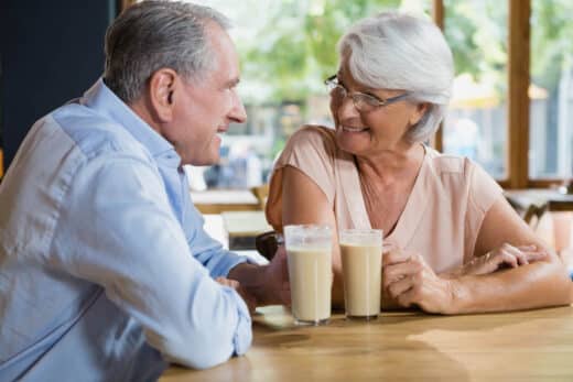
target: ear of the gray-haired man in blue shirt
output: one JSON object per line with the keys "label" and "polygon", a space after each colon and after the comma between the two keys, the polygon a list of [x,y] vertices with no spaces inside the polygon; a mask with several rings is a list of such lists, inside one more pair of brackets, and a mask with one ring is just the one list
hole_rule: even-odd
{"label": "ear of the gray-haired man in blue shirt", "polygon": [[173,92],[176,88],[177,74],[170,68],[161,68],[149,79],[149,100],[160,122],[173,119]]}

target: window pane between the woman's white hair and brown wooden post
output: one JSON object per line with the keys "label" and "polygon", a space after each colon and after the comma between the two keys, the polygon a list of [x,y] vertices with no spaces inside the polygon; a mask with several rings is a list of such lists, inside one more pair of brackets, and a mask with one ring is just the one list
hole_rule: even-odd
{"label": "window pane between the woman's white hair and brown wooden post", "polygon": [[507,3],[444,1],[444,34],[456,77],[443,128],[443,151],[507,177]]}

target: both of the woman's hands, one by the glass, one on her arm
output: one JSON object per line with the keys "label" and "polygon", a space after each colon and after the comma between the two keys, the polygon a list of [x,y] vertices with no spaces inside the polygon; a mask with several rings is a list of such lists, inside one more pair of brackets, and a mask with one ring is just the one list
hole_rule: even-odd
{"label": "both of the woman's hands, one by the glass, one on her arm", "polygon": [[537,245],[513,247],[506,243],[453,272],[437,275],[419,253],[390,248],[382,258],[385,305],[418,306],[428,313],[452,314],[461,277],[518,268],[548,255]]}

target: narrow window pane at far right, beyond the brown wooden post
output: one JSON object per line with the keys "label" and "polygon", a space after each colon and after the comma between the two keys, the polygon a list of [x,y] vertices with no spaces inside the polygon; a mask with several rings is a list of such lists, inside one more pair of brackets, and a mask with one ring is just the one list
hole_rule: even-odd
{"label": "narrow window pane at far right, beyond the brown wooden post", "polygon": [[531,2],[529,176],[573,176],[571,1]]}

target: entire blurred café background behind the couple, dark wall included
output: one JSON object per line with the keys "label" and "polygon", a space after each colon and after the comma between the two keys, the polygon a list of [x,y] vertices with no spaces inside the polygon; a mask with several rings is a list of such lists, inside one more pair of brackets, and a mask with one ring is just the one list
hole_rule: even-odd
{"label": "entire blurred caf\u00e9 background behind the couple, dark wall included", "polygon": [[[0,176],[33,122],[101,75],[106,28],[134,2],[0,2]],[[303,123],[332,124],[323,81],[337,70],[338,37],[355,21],[396,9],[433,20],[454,53],[450,111],[428,143],[480,163],[508,198],[515,189],[533,190],[542,203],[518,204],[551,211],[554,232],[567,237],[554,242],[570,245],[573,196],[553,192],[566,192],[573,176],[573,1],[194,2],[235,25],[238,91],[249,117],[225,134],[218,164],[186,168],[192,192],[203,193],[194,195],[202,211],[263,208],[264,188],[257,187],[267,184],[292,132]]]}

